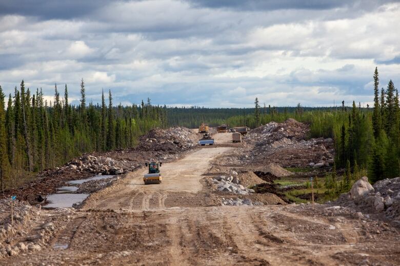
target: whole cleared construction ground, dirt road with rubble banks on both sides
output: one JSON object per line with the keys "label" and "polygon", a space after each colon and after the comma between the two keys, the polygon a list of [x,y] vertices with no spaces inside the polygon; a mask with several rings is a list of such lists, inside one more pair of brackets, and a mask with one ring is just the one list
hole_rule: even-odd
{"label": "whole cleared construction ground, dirt road with rubble banks on both sides", "polygon": [[[290,175],[282,166],[331,167],[332,140],[307,139],[296,123],[262,126],[239,143],[214,133],[210,146],[197,145],[197,130],[157,129],[141,148],[84,154],[47,173],[56,173],[54,185],[18,194],[13,224],[10,201],[0,201],[0,264],[398,265],[397,179],[375,187],[361,180],[327,204],[290,204],[253,189]],[[144,185],[149,161],[163,162],[161,184]],[[90,181],[75,208],[45,209],[28,194],[117,171],[107,185]]]}

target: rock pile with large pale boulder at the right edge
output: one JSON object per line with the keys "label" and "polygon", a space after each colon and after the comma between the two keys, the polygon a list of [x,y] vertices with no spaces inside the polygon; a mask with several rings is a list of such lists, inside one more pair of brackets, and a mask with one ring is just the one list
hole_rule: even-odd
{"label": "rock pile with large pale boulder at the right edge", "polygon": [[400,178],[381,180],[371,186],[364,176],[334,204],[377,214],[400,223]]}

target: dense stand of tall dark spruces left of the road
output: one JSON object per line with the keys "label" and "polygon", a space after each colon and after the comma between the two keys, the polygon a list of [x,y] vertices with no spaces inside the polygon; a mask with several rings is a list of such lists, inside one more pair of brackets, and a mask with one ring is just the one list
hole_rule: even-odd
{"label": "dense stand of tall dark spruces left of the road", "polygon": [[[108,99],[106,99],[108,98]],[[106,102],[107,101],[107,102]],[[7,105],[6,105],[7,102]],[[6,107],[7,106],[7,107]],[[69,103],[54,86],[54,100],[42,89],[31,93],[24,80],[8,100],[0,86],[0,180],[2,189],[24,182],[32,173],[62,165],[83,152],[133,147],[137,137],[154,127],[167,126],[166,106],[150,99],[141,105],[114,106],[112,94],[102,103],[87,105],[85,82],[81,100]]]}

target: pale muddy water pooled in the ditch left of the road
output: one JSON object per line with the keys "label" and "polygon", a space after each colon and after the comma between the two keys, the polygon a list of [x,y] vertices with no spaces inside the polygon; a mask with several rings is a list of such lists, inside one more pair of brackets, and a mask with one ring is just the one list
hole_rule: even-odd
{"label": "pale muddy water pooled in the ditch left of the road", "polygon": [[[107,179],[111,176],[113,175],[96,175],[88,179],[72,180],[67,183],[70,185],[81,185],[85,182]],[[73,204],[81,203],[89,196],[89,194],[73,193],[77,189],[77,186],[63,186],[57,188],[56,194],[50,194],[47,196],[47,200],[50,203],[43,206],[43,208],[71,208]]]}

